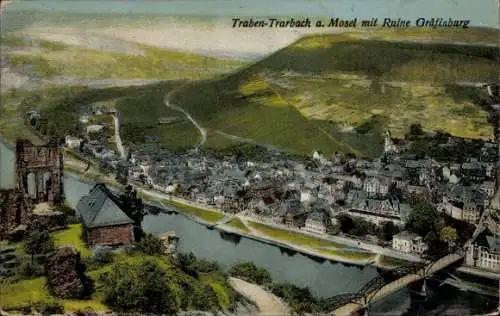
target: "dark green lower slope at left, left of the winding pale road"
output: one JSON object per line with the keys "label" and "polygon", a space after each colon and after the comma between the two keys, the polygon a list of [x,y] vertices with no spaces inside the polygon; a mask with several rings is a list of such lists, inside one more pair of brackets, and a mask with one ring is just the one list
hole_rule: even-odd
{"label": "dark green lower slope at left, left of the winding pale road", "polygon": [[[163,104],[165,94],[182,84],[166,81],[141,87],[89,89],[55,86],[31,92],[14,91],[0,96],[0,133],[6,139],[40,138],[24,125],[24,113],[38,109],[45,119],[46,135],[64,138],[81,132],[79,112],[92,103],[106,103],[121,115],[120,134],[127,147],[155,142],[163,148],[192,148],[200,139],[199,131],[184,115]],[[170,124],[161,118],[177,117]],[[154,139],[156,138],[156,139]],[[151,140],[153,139],[153,140]]]}

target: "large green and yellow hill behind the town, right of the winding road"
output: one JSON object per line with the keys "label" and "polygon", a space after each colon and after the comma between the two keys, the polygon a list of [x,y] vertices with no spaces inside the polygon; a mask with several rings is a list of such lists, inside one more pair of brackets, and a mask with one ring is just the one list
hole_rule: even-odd
{"label": "large green and yellow hill behind the town, right of the winding road", "polygon": [[406,41],[388,32],[305,37],[223,79],[185,86],[173,102],[209,132],[291,152],[373,156],[384,128],[402,137],[417,121],[490,138],[487,113],[477,106],[485,92],[461,84],[498,80],[498,48],[474,43],[500,33],[454,30],[447,43],[435,43],[429,32],[411,32]]}

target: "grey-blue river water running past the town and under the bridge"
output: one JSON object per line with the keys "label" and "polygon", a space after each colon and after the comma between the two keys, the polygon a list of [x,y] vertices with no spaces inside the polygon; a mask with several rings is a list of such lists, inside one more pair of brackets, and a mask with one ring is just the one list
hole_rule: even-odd
{"label": "grey-blue river water running past the town and under the bridge", "polygon": [[[5,187],[14,183],[13,158],[12,151],[0,143],[0,186]],[[84,182],[77,177],[66,175],[64,190],[67,202],[75,207],[78,200],[88,193],[91,186],[92,182]],[[143,227],[145,231],[154,234],[174,230],[180,237],[180,251],[191,251],[199,258],[218,262],[222,267],[243,261],[253,261],[269,270],[274,280],[307,286],[316,295],[322,297],[355,292],[377,274],[373,267],[349,266],[330,261],[317,262],[298,253],[287,254],[278,247],[254,240],[232,235],[223,236],[219,231],[209,230],[182,215],[166,213],[147,215]],[[370,313],[372,315],[402,315],[410,307],[413,307],[412,310],[415,311],[422,310],[423,305],[411,299],[409,293],[408,289],[399,291],[376,303]],[[450,309],[448,315],[457,315],[457,308],[461,311],[461,315],[472,315],[468,305],[492,309],[487,306],[494,302],[480,305],[477,299],[477,296],[471,296],[449,287],[440,291],[438,298],[440,306]]]}

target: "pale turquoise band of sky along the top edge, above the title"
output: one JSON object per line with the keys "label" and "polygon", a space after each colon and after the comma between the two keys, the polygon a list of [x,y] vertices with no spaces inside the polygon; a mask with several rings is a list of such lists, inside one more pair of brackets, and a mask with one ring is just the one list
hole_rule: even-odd
{"label": "pale turquoise band of sky along the top edge, above the title", "polygon": [[[91,5],[89,5],[91,4]],[[498,0],[12,0],[4,11],[141,13],[211,16],[335,16],[368,19],[469,19],[499,27]]]}

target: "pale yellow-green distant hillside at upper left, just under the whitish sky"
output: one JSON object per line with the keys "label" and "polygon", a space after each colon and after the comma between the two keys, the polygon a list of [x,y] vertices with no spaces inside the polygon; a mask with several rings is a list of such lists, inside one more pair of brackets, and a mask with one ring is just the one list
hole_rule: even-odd
{"label": "pale yellow-green distant hillside at upper left, just under the whitish sky", "polygon": [[94,79],[204,79],[245,65],[142,44],[130,44],[142,54],[106,52],[47,40],[2,37],[2,46],[23,49],[8,55],[14,68],[30,67],[40,77],[70,76]]}

